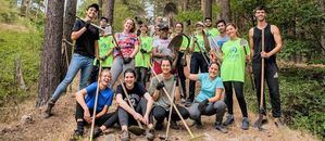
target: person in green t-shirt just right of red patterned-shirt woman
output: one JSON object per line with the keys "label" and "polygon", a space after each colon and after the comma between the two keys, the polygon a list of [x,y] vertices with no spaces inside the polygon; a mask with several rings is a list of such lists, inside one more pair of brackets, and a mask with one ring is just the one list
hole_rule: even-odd
{"label": "person in green t-shirt just right of red patterned-shirt woman", "polygon": [[146,24],[140,25],[140,51],[135,56],[135,68],[137,73],[137,81],[142,84],[146,88],[146,80],[148,76],[150,53],[152,51],[152,38],[148,36],[148,26]]}

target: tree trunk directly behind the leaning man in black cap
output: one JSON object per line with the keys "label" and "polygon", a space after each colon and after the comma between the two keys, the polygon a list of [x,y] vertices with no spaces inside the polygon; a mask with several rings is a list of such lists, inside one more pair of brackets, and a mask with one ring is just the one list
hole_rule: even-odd
{"label": "tree trunk directly behind the leaning man in black cap", "polygon": [[[75,17],[76,17],[77,0],[66,0],[65,2],[66,3],[65,3],[64,22],[63,22],[63,39],[65,39],[68,42],[73,42],[71,39],[71,33],[76,20]],[[64,79],[65,74],[67,72],[67,66],[70,64],[71,56],[72,56],[72,49],[73,49],[72,46],[70,46],[65,41],[62,42],[60,80]]]}

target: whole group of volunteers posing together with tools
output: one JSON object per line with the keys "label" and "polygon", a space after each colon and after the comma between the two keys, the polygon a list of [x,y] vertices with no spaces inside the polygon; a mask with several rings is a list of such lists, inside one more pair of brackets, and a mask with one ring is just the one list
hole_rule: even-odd
{"label": "whole group of volunteers posing together with tools", "polygon": [[[168,118],[170,113],[173,129],[179,129],[177,121],[180,116],[192,119],[197,128],[202,128],[201,115],[215,115],[215,129],[226,133],[226,126],[235,120],[234,92],[242,114],[241,128],[247,130],[249,119],[243,94],[245,68],[250,66],[254,75],[260,103],[261,67],[264,66],[261,65],[262,59],[265,59],[265,78],[273,117],[277,124],[280,121],[275,54],[282,49],[282,38],[279,29],[266,23],[266,10],[263,7],[258,7],[254,11],[258,25],[249,30],[249,41],[239,37],[235,24],[220,20],[214,28],[211,17],[205,17],[204,23],[197,22],[196,31],[188,40],[188,36],[183,33],[183,23],[176,23],[174,30],[171,30],[161,17],[157,18],[152,34],[150,26],[143,23],[137,25],[133,18],[126,18],[123,31],[112,35],[91,25],[98,11],[98,4],[91,4],[86,11],[86,17],[75,22],[71,38],[76,40],[76,44],[68,70],[45,112],[45,117],[51,116],[55,102],[80,70],[79,91],[75,94],[77,129],[74,136],[83,136],[84,125],[96,118],[98,127],[93,131],[95,138],[118,124],[122,129],[121,139],[129,140],[128,127],[140,121],[148,127],[147,139],[153,140],[155,130],[164,128],[164,119]],[[101,17],[100,26],[105,28],[108,22],[105,17]],[[184,37],[179,49],[173,50],[168,44],[176,36]],[[262,50],[262,43],[265,50]],[[186,63],[187,54],[190,54],[189,68]],[[123,76],[118,80],[121,74]],[[186,78],[189,79],[188,95]],[[87,86],[88,80],[90,85]],[[196,81],[201,86],[197,94]],[[92,115],[97,90],[96,115]],[[117,108],[108,113],[114,97]],[[173,104],[176,104],[177,110],[172,107]],[[223,121],[226,112],[226,119]],[[265,111],[261,114],[266,117]]]}

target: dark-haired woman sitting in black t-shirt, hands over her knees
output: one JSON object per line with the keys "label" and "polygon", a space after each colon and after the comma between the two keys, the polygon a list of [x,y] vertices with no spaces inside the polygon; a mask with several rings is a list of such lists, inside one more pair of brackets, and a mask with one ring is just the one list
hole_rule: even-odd
{"label": "dark-haired woman sitting in black t-shirt, hands over her knees", "polygon": [[[151,115],[151,108],[153,105],[153,100],[151,95],[147,92],[145,87],[136,81],[136,72],[132,68],[127,68],[124,72],[124,82],[117,86],[116,89],[116,101],[118,104],[118,119],[122,127],[122,141],[129,140],[128,125],[129,117],[133,117],[133,121],[139,120],[147,125],[149,128],[146,132],[148,140],[153,140],[155,137],[153,129],[153,118]],[[126,92],[124,92],[123,87],[125,86]],[[129,100],[127,100],[127,95]],[[132,105],[128,104],[129,101]],[[133,108],[133,107],[134,108]]]}

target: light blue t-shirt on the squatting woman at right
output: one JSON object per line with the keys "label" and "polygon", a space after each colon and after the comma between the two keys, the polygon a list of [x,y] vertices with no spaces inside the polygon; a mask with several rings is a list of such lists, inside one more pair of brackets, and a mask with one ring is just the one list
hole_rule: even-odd
{"label": "light blue t-shirt on the squatting woman at right", "polygon": [[224,89],[223,80],[221,77],[216,77],[213,80],[209,78],[209,73],[199,74],[199,81],[201,84],[200,93],[197,95],[196,101],[201,102],[205,99],[213,98],[215,90]]}

